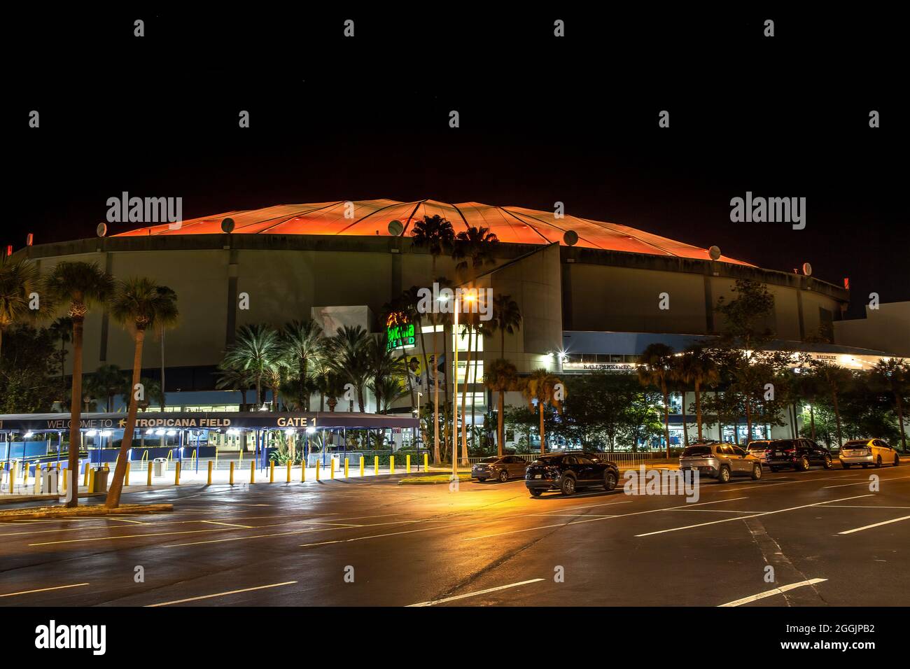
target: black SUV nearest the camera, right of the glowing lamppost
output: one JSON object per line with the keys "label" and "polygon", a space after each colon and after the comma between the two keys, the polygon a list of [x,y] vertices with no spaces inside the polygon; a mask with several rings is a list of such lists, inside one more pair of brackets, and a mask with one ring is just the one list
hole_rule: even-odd
{"label": "black SUV nearest the camera, right of the glowing lamppost", "polygon": [[572,451],[541,455],[528,465],[524,484],[532,497],[549,490],[571,495],[581,488],[602,485],[612,491],[620,480],[615,462],[603,459],[601,453]]}

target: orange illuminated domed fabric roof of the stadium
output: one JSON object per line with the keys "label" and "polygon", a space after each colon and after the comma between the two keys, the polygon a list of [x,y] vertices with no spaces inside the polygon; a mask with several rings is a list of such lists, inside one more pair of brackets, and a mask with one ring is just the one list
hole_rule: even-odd
{"label": "orange illuminated domed fabric roof of the stadium", "polygon": [[[447,218],[455,232],[469,227],[490,228],[501,242],[513,244],[565,244],[562,235],[567,230],[578,233],[582,248],[602,248],[652,256],[710,259],[705,248],[694,247],[649,232],[615,223],[589,218],[564,216],[556,218],[552,211],[522,207],[493,207],[478,202],[448,204],[425,199],[398,202],[372,199],[353,202],[353,217],[346,218],[345,202],[319,202],[308,205],[276,205],[262,209],[227,211],[223,214],[192,218],[183,221],[179,229],[167,223],[122,232],[115,237],[157,235],[196,235],[221,233],[221,221],[234,219],[234,234],[270,235],[369,235],[389,236],[389,221],[399,220],[404,236],[410,236],[416,220],[439,214]],[[750,263],[721,256],[722,262],[737,265]],[[751,265],[750,265],[751,266]]]}

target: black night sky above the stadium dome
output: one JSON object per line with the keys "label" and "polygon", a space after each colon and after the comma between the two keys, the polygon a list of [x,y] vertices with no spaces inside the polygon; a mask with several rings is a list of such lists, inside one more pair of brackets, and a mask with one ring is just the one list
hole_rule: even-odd
{"label": "black night sky above the stadium dome", "polygon": [[[910,299],[894,17],[459,6],[16,17],[0,241],[91,237],[124,190],[180,196],[185,218],[347,199],[559,200],[768,269],[809,261],[818,279],[851,279],[852,317],[872,291]],[[555,18],[566,37],[552,36]],[[27,127],[31,109],[40,128]],[[730,198],[747,190],[806,198],[806,228],[732,223]]]}

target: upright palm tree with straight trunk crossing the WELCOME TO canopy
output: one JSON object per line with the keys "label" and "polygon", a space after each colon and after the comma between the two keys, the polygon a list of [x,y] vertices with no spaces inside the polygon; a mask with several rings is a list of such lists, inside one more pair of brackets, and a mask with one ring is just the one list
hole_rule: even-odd
{"label": "upright palm tree with straight trunk crossing the WELCOME TO canopy", "polygon": [[73,385],[70,392],[69,470],[73,477],[73,496],[66,506],[79,503],[76,495],[79,466],[79,419],[82,415],[82,333],[86,314],[96,304],[104,304],[114,289],[114,279],[96,263],[59,262],[45,279],[49,299],[66,304],[73,321]]}

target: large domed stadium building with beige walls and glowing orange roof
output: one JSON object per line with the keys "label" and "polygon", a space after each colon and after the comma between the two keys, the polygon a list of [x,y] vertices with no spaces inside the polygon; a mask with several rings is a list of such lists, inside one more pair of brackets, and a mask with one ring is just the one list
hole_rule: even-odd
{"label": "large domed stadium building with beige walls and glowing orange roof", "polygon": [[[279,205],[30,246],[15,255],[31,258],[42,272],[62,260],[84,260],[118,279],[147,276],[174,289],[180,321],[166,335],[168,409],[236,411],[239,393],[216,391],[214,372],[239,327],[313,318],[328,334],[346,324],[384,330],[384,305],[411,286],[432,284],[433,258],[411,235],[415,222],[435,215],[448,219],[456,233],[490,228],[499,244],[476,283],[494,295],[511,295],[521,309],[521,329],[505,335],[504,351],[499,334],[481,342],[478,380],[482,361],[503,354],[520,372],[633,370],[649,343],[681,350],[718,333],[723,324],[713,306],[732,296],[736,279],[760,281],[773,294],[769,326],[779,340],[859,366],[886,354],[801,343],[820,332],[830,336],[834,321],[842,319],[849,295],[840,286],[624,225],[521,207],[430,199]],[[226,218],[233,221],[229,234],[223,231]],[[451,258],[437,259],[436,275],[455,279]],[[434,336],[441,352],[442,334],[429,323],[423,330],[428,352]],[[86,372],[104,364],[129,369],[132,358],[126,332],[106,313],[91,312]],[[160,345],[149,342],[143,375],[157,378],[161,359]],[[480,417],[487,393],[478,383],[469,404],[471,395]]]}

